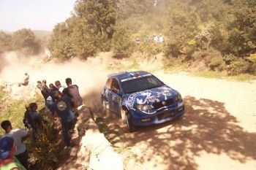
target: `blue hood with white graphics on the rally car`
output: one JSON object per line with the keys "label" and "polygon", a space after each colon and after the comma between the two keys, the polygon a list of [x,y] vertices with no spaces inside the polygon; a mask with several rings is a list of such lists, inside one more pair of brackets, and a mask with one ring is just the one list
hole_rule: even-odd
{"label": "blue hood with white graphics on the rally car", "polygon": [[178,95],[176,90],[167,86],[143,90],[136,93],[127,94],[127,100],[124,102],[127,109],[132,109],[138,104],[154,104],[155,102],[165,101]]}

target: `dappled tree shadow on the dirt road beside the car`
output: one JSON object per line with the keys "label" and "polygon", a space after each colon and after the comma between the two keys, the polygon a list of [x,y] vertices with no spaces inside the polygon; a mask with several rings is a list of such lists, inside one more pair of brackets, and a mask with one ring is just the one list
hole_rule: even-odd
{"label": "dappled tree shadow on the dirt road beside the car", "polygon": [[[89,106],[97,112],[101,111],[99,96],[97,91],[86,96],[86,101],[91,100]],[[203,151],[217,155],[225,153],[241,163],[256,161],[256,134],[237,125],[236,117],[227,112],[224,103],[192,96],[186,96],[184,101],[184,116],[172,122],[139,128],[135,133],[127,133],[121,120],[113,114],[105,120],[118,129],[125,144],[140,147],[142,151],[136,155],[140,163],[154,159],[154,166],[162,164],[166,169],[197,169],[195,156]]]}

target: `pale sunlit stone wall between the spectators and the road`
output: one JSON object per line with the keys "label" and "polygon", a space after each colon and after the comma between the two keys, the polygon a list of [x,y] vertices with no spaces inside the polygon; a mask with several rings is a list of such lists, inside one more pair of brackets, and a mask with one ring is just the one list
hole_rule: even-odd
{"label": "pale sunlit stone wall between the spectators and the road", "polygon": [[59,170],[123,170],[121,155],[113,150],[104,134],[91,119],[89,109],[79,111],[78,122],[72,134],[75,145],[69,150],[69,158],[59,166]]}

